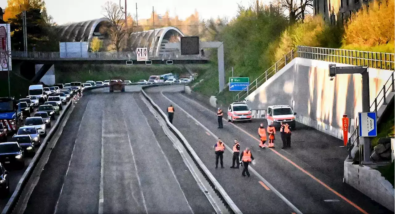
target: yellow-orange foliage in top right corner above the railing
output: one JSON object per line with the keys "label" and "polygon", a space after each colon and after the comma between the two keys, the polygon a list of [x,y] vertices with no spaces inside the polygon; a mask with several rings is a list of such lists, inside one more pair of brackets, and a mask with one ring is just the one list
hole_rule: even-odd
{"label": "yellow-orange foliage in top right corner above the railing", "polygon": [[361,48],[395,44],[395,0],[363,6],[345,27],[344,46]]}

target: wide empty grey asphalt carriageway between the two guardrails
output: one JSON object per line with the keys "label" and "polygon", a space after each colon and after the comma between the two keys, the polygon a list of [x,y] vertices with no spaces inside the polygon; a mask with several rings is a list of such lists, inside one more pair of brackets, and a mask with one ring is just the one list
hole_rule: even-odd
{"label": "wide empty grey asphalt carriageway between the two guardrails", "polygon": [[215,213],[139,89],[84,94],[25,213]]}

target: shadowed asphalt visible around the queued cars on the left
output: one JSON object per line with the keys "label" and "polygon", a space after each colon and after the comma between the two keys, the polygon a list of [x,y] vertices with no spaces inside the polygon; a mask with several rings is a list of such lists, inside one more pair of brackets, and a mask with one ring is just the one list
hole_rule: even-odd
{"label": "shadowed asphalt visible around the queued cars on the left", "polygon": [[[64,110],[62,110],[64,111]],[[60,111],[60,113],[62,113],[62,111]],[[30,116],[33,116],[34,113],[37,112],[37,108],[34,108],[33,113],[30,114]],[[52,125],[54,125],[56,123],[56,120],[58,120],[58,115],[55,115],[55,120],[51,120],[51,127],[47,127],[47,133],[51,130]],[[11,140],[12,136],[14,134],[13,133],[8,133],[7,139],[8,141]],[[45,137],[41,136],[41,141],[44,140]],[[36,147],[36,151],[38,150],[39,147]],[[32,160],[33,156],[25,156],[25,165],[23,169],[15,169],[15,168],[9,168],[7,166],[5,166],[6,170],[9,172],[9,194],[8,196],[2,197],[0,199],[0,209],[3,209],[9,200],[9,197],[11,197],[11,195],[13,194],[15,188],[17,187],[17,184],[19,182],[19,179],[21,179],[23,173],[25,172],[26,168],[29,166],[30,161]]]}

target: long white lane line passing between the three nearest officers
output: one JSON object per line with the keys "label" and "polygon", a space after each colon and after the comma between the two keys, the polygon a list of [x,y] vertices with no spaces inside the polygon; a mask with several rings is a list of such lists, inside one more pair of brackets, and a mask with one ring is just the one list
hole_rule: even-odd
{"label": "long white lane line passing between the three nearest officers", "polygon": [[[169,98],[167,98],[164,94],[163,94],[163,90],[160,92],[160,94],[162,94],[162,96],[164,98],[166,98],[167,100],[169,100],[171,103],[173,103],[173,105],[175,105],[177,108],[181,109],[181,111],[183,111],[185,114],[187,114],[190,118],[192,118],[192,120],[194,120],[196,123],[198,123],[203,129],[205,129],[207,132],[209,132],[215,139],[218,139],[218,137],[212,132],[210,131],[210,129],[208,129],[207,127],[205,127],[203,124],[201,124],[198,120],[196,120],[196,118],[194,118],[192,115],[190,115],[188,112],[186,112],[184,109],[182,109],[179,105],[177,105],[175,102],[173,102],[172,100],[170,100]],[[225,144],[225,148],[228,149],[228,151],[232,152],[232,149],[229,146],[226,146]],[[248,167],[252,173],[254,173],[264,184],[266,184],[266,186],[268,186],[278,197],[280,197],[280,199],[282,199],[290,208],[292,208],[293,211],[295,211],[297,214],[302,214],[302,212],[295,207],[295,205],[293,205],[290,201],[288,201],[288,199],[286,199],[286,197],[284,197],[280,192],[278,192],[268,181],[266,181],[266,179],[264,179],[258,172],[256,172],[254,170],[254,168],[252,168],[251,166]]]}

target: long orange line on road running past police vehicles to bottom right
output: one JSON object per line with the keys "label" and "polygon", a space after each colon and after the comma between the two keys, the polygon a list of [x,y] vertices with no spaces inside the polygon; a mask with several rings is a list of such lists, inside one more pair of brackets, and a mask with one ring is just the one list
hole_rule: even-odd
{"label": "long orange line on road running past police vehicles to bottom right", "polygon": [[[163,96],[165,96],[162,92],[161,94]],[[184,96],[181,94],[181,96]],[[165,96],[166,97],[166,96]],[[208,111],[212,112],[210,109],[206,108],[205,106],[201,105],[200,103],[191,100],[190,98],[184,96],[186,99],[200,105],[201,107],[207,109]],[[167,98],[167,97],[166,97]],[[167,98],[168,99],[168,98]],[[169,99],[168,99],[169,100]],[[225,119],[224,119],[225,120]],[[234,127],[236,127],[237,129],[239,129],[240,131],[242,131],[243,133],[245,133],[246,135],[254,138],[256,141],[260,142],[260,140],[256,137],[254,137],[253,135],[251,135],[250,133],[248,133],[247,131],[245,131],[244,129],[242,129],[241,127],[232,124]],[[363,214],[368,214],[368,212],[366,212],[365,210],[363,210],[361,207],[359,207],[358,205],[356,205],[355,203],[353,203],[352,201],[350,201],[349,199],[347,199],[346,197],[342,196],[339,192],[337,192],[336,190],[332,189],[331,187],[329,187],[327,184],[325,184],[324,182],[322,182],[320,179],[316,178],[314,175],[312,175],[311,173],[307,172],[305,169],[301,168],[299,165],[295,164],[292,160],[288,159],[287,157],[285,157],[284,155],[280,154],[278,151],[276,151],[275,149],[269,148],[271,151],[273,151],[276,155],[282,157],[282,159],[288,161],[290,164],[292,164],[293,166],[295,166],[297,169],[301,170],[303,173],[305,173],[306,175],[308,175],[309,177],[311,177],[314,181],[318,182],[319,184],[321,184],[322,186],[324,186],[325,188],[327,188],[327,190],[333,192],[335,195],[337,195],[338,197],[340,197],[341,199],[343,199],[344,201],[346,201],[348,204],[352,205],[353,207],[355,207],[357,210],[359,210],[360,212],[362,212]]]}

